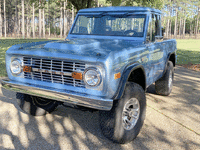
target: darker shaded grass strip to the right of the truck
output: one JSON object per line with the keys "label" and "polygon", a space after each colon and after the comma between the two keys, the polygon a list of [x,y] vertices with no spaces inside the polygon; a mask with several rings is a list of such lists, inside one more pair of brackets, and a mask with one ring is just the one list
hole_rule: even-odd
{"label": "darker shaded grass strip to the right of the truck", "polygon": [[200,64],[200,50],[177,50],[177,64]]}

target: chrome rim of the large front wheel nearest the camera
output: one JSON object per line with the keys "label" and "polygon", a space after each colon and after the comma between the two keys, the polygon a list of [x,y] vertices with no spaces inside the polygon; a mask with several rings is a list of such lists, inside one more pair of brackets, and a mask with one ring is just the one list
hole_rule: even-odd
{"label": "chrome rim of the large front wheel nearest the camera", "polygon": [[136,125],[140,115],[140,104],[138,99],[131,98],[126,102],[122,112],[123,128],[131,130]]}

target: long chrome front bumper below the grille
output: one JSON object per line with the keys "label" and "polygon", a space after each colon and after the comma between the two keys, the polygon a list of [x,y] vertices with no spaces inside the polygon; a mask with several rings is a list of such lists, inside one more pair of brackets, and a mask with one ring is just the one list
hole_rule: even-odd
{"label": "long chrome front bumper below the grille", "polygon": [[20,83],[18,81],[11,81],[8,78],[1,79],[1,85],[7,90],[49,98],[52,100],[67,102],[74,105],[81,105],[99,110],[110,110],[113,105],[112,99],[104,99],[102,97],[76,93],[64,89],[61,90],[40,85]]}

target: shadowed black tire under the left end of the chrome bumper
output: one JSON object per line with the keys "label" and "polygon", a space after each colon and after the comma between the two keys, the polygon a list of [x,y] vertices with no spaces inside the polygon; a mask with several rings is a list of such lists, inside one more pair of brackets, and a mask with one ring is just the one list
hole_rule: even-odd
{"label": "shadowed black tire under the left end of the chrome bumper", "polygon": [[19,107],[32,116],[42,116],[46,113],[51,113],[59,104],[57,101],[22,93],[17,93],[16,98]]}

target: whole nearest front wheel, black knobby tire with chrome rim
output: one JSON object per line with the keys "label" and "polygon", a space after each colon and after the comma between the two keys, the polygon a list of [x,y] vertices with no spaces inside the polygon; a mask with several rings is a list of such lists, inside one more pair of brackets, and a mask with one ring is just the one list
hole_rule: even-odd
{"label": "whole nearest front wheel, black knobby tire with chrome rim", "polygon": [[122,98],[114,101],[113,108],[99,112],[102,133],[113,142],[130,142],[139,134],[145,113],[146,97],[143,88],[128,82]]}

